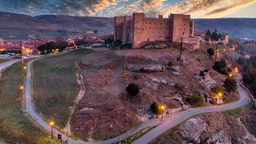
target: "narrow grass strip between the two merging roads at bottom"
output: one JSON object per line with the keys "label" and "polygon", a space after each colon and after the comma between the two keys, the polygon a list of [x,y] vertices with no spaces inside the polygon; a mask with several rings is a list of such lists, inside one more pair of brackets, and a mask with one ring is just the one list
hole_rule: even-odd
{"label": "narrow grass strip between the two merging roads at bottom", "polygon": [[127,139],[121,140],[120,142],[117,142],[115,144],[129,144],[132,143],[134,140],[138,139],[139,137],[143,136],[143,134],[146,134],[146,132],[153,129],[155,126],[147,127],[140,132],[137,132],[136,134],[133,134],[132,136],[128,137]]}

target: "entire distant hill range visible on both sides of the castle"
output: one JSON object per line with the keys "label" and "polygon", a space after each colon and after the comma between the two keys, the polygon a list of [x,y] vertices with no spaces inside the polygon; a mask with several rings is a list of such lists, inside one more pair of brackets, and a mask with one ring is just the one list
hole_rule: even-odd
{"label": "entire distant hill range visible on both sides of the castle", "polygon": [[[195,19],[195,29],[228,32],[233,37],[256,38],[256,18]],[[68,15],[30,15],[0,12],[0,37],[27,39],[85,35],[86,31],[113,32],[113,18]]]}

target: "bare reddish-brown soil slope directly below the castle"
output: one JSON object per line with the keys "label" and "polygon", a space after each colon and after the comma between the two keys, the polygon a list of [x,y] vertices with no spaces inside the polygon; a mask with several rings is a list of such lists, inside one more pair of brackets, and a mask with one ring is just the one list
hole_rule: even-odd
{"label": "bare reddish-brown soil slope directly below the castle", "polygon": [[[208,93],[206,88],[194,76],[201,70],[208,69],[212,78],[222,85],[225,76],[211,69],[213,60],[203,50],[184,53],[188,64],[176,61],[179,50],[109,50],[89,53],[81,59],[83,80],[86,94],[75,107],[71,118],[71,131],[84,140],[104,140],[127,132],[142,121],[137,110],[149,107],[156,101],[177,108],[181,102],[173,96],[191,96],[195,93]],[[132,72],[129,67],[145,67],[159,64],[167,67],[169,61],[180,67],[181,75],[173,75],[173,70],[164,72]],[[145,82],[152,79],[166,80],[167,84],[157,83],[150,88]],[[170,86],[170,81],[181,88]],[[138,83],[142,90],[138,98],[132,99],[125,91],[129,83]]]}

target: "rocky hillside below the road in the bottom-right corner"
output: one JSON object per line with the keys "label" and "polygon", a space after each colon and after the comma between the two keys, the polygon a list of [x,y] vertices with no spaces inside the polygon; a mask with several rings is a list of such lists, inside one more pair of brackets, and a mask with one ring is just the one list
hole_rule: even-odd
{"label": "rocky hillside below the road in the bottom-right corner", "polygon": [[252,107],[246,106],[222,113],[198,115],[151,143],[256,143],[255,113]]}

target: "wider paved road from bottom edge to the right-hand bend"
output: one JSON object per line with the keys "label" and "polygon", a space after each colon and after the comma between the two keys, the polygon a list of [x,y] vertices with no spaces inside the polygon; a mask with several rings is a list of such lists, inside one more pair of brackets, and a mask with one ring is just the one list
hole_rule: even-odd
{"label": "wider paved road from bottom edge to the right-hand bend", "polygon": [[[242,77],[239,74],[237,76],[237,81],[240,81],[241,78]],[[195,116],[201,113],[233,110],[238,107],[243,107],[245,105],[248,105],[252,101],[246,89],[244,89],[241,85],[238,86],[238,93],[239,93],[240,99],[236,102],[232,102],[227,105],[192,108],[182,113],[178,113],[178,115],[173,115],[171,118],[165,119],[165,122],[163,122],[162,124],[159,124],[157,127],[155,127],[154,129],[151,129],[151,131],[147,132],[142,137],[135,140],[132,144],[150,143],[152,140],[157,138],[160,134],[167,132],[168,129],[171,129],[174,126],[181,124],[183,121],[186,121],[192,116]]]}

